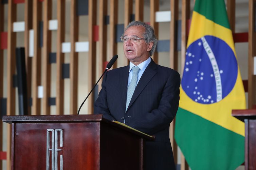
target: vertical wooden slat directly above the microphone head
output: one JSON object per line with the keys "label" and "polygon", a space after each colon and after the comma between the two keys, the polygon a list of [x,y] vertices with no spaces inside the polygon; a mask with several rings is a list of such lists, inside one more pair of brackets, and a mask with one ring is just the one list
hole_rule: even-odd
{"label": "vertical wooden slat directly above the microphone head", "polygon": [[[110,56],[113,57],[117,53],[117,43],[116,43],[116,25],[117,25],[117,16],[118,11],[118,0],[110,0],[110,16],[109,16],[109,29],[110,29]],[[119,38],[119,37],[118,37]],[[113,68],[116,68],[116,63],[114,63]]]}

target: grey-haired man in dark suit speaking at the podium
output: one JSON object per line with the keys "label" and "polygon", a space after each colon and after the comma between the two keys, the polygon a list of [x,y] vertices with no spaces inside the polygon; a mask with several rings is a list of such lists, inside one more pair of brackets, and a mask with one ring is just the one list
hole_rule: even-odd
{"label": "grey-haired man in dark suit speaking at the podium", "polygon": [[157,39],[150,25],[129,23],[121,40],[130,65],[106,73],[94,113],[156,136],[146,142],[146,170],[175,169],[169,124],[179,105],[180,75],[153,62]]}

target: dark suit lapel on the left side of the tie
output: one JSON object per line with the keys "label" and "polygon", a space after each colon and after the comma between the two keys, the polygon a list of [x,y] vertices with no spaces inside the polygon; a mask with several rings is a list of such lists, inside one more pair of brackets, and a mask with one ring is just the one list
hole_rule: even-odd
{"label": "dark suit lapel on the left side of the tie", "polygon": [[119,74],[119,80],[120,80],[120,94],[122,95],[122,101],[121,106],[123,107],[123,110],[125,112],[126,107],[126,98],[127,98],[127,83],[128,83],[128,76],[129,76],[129,65],[125,66],[124,69]]}

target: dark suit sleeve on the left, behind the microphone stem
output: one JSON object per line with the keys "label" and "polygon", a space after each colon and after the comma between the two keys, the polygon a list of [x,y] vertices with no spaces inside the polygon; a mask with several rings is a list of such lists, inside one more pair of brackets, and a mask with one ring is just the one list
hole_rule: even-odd
{"label": "dark suit sleeve on the left, behind the microphone stem", "polygon": [[102,81],[102,89],[99,92],[99,96],[94,103],[94,114],[103,114],[103,117],[108,120],[116,120],[111,114],[108,109],[108,102],[107,102],[107,88],[106,88],[106,81],[107,81],[107,73],[104,75]]}

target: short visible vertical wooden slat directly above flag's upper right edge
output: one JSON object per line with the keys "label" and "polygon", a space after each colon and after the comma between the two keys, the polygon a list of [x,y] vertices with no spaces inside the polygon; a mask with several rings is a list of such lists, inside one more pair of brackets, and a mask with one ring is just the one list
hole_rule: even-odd
{"label": "short visible vertical wooden slat directly above flag's upper right edge", "polygon": [[227,0],[227,16],[230,23],[230,29],[235,32],[236,21],[236,0]]}

